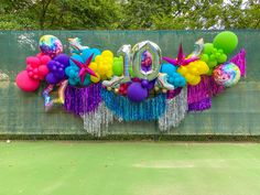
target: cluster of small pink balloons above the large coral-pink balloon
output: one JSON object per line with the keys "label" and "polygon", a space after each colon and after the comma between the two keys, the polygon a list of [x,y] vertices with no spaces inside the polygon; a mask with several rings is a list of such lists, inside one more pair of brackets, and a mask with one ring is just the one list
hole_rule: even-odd
{"label": "cluster of small pink balloons above the large coral-pink balloon", "polygon": [[47,63],[51,61],[48,55],[37,54],[26,57],[28,75],[36,80],[43,80],[48,73]]}

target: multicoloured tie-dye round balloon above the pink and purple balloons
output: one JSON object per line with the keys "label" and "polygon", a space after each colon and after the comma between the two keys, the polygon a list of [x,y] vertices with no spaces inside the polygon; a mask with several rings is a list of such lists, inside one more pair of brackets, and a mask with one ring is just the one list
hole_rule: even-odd
{"label": "multicoloured tie-dye round balloon above the pink and purple balloons", "polygon": [[40,39],[39,47],[43,54],[51,57],[55,57],[63,52],[62,42],[53,35],[43,35]]}

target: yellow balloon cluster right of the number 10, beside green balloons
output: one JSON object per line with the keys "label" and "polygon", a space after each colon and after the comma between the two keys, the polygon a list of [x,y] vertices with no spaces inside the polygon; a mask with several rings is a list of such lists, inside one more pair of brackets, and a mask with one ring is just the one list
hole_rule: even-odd
{"label": "yellow balloon cluster right of the number 10, beside green balloons", "polygon": [[209,71],[207,64],[203,61],[195,61],[186,66],[180,66],[177,73],[183,75],[189,85],[197,85],[201,82],[201,75]]}

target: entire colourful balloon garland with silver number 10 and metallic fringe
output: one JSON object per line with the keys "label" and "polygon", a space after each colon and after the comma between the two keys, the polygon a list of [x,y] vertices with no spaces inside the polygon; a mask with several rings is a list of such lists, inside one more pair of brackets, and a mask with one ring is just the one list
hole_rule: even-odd
{"label": "entire colourful balloon garland with silver number 10 and metallic fringe", "polygon": [[[71,56],[62,42],[43,35],[40,53],[26,57],[26,69],[17,76],[17,86],[26,93],[48,84],[43,91],[44,107],[63,105],[84,119],[87,132],[101,136],[113,120],[158,120],[161,131],[177,127],[188,111],[209,109],[212,97],[236,85],[246,76],[246,52],[229,61],[238,45],[230,31],[218,33],[213,43],[199,39],[185,56],[180,44],[176,57],[162,57],[158,44],[143,41],[131,46],[99,51],[68,39]],[[164,62],[163,62],[164,61]],[[51,93],[57,86],[57,97]]]}

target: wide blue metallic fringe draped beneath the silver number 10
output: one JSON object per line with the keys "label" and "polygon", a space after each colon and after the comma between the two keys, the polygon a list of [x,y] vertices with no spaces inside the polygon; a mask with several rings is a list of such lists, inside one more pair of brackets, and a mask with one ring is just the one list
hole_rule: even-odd
{"label": "wide blue metallic fringe draped beneath the silver number 10", "polygon": [[102,100],[108,109],[124,121],[155,120],[165,111],[166,95],[161,94],[141,102],[133,102],[124,96],[101,89]]}

